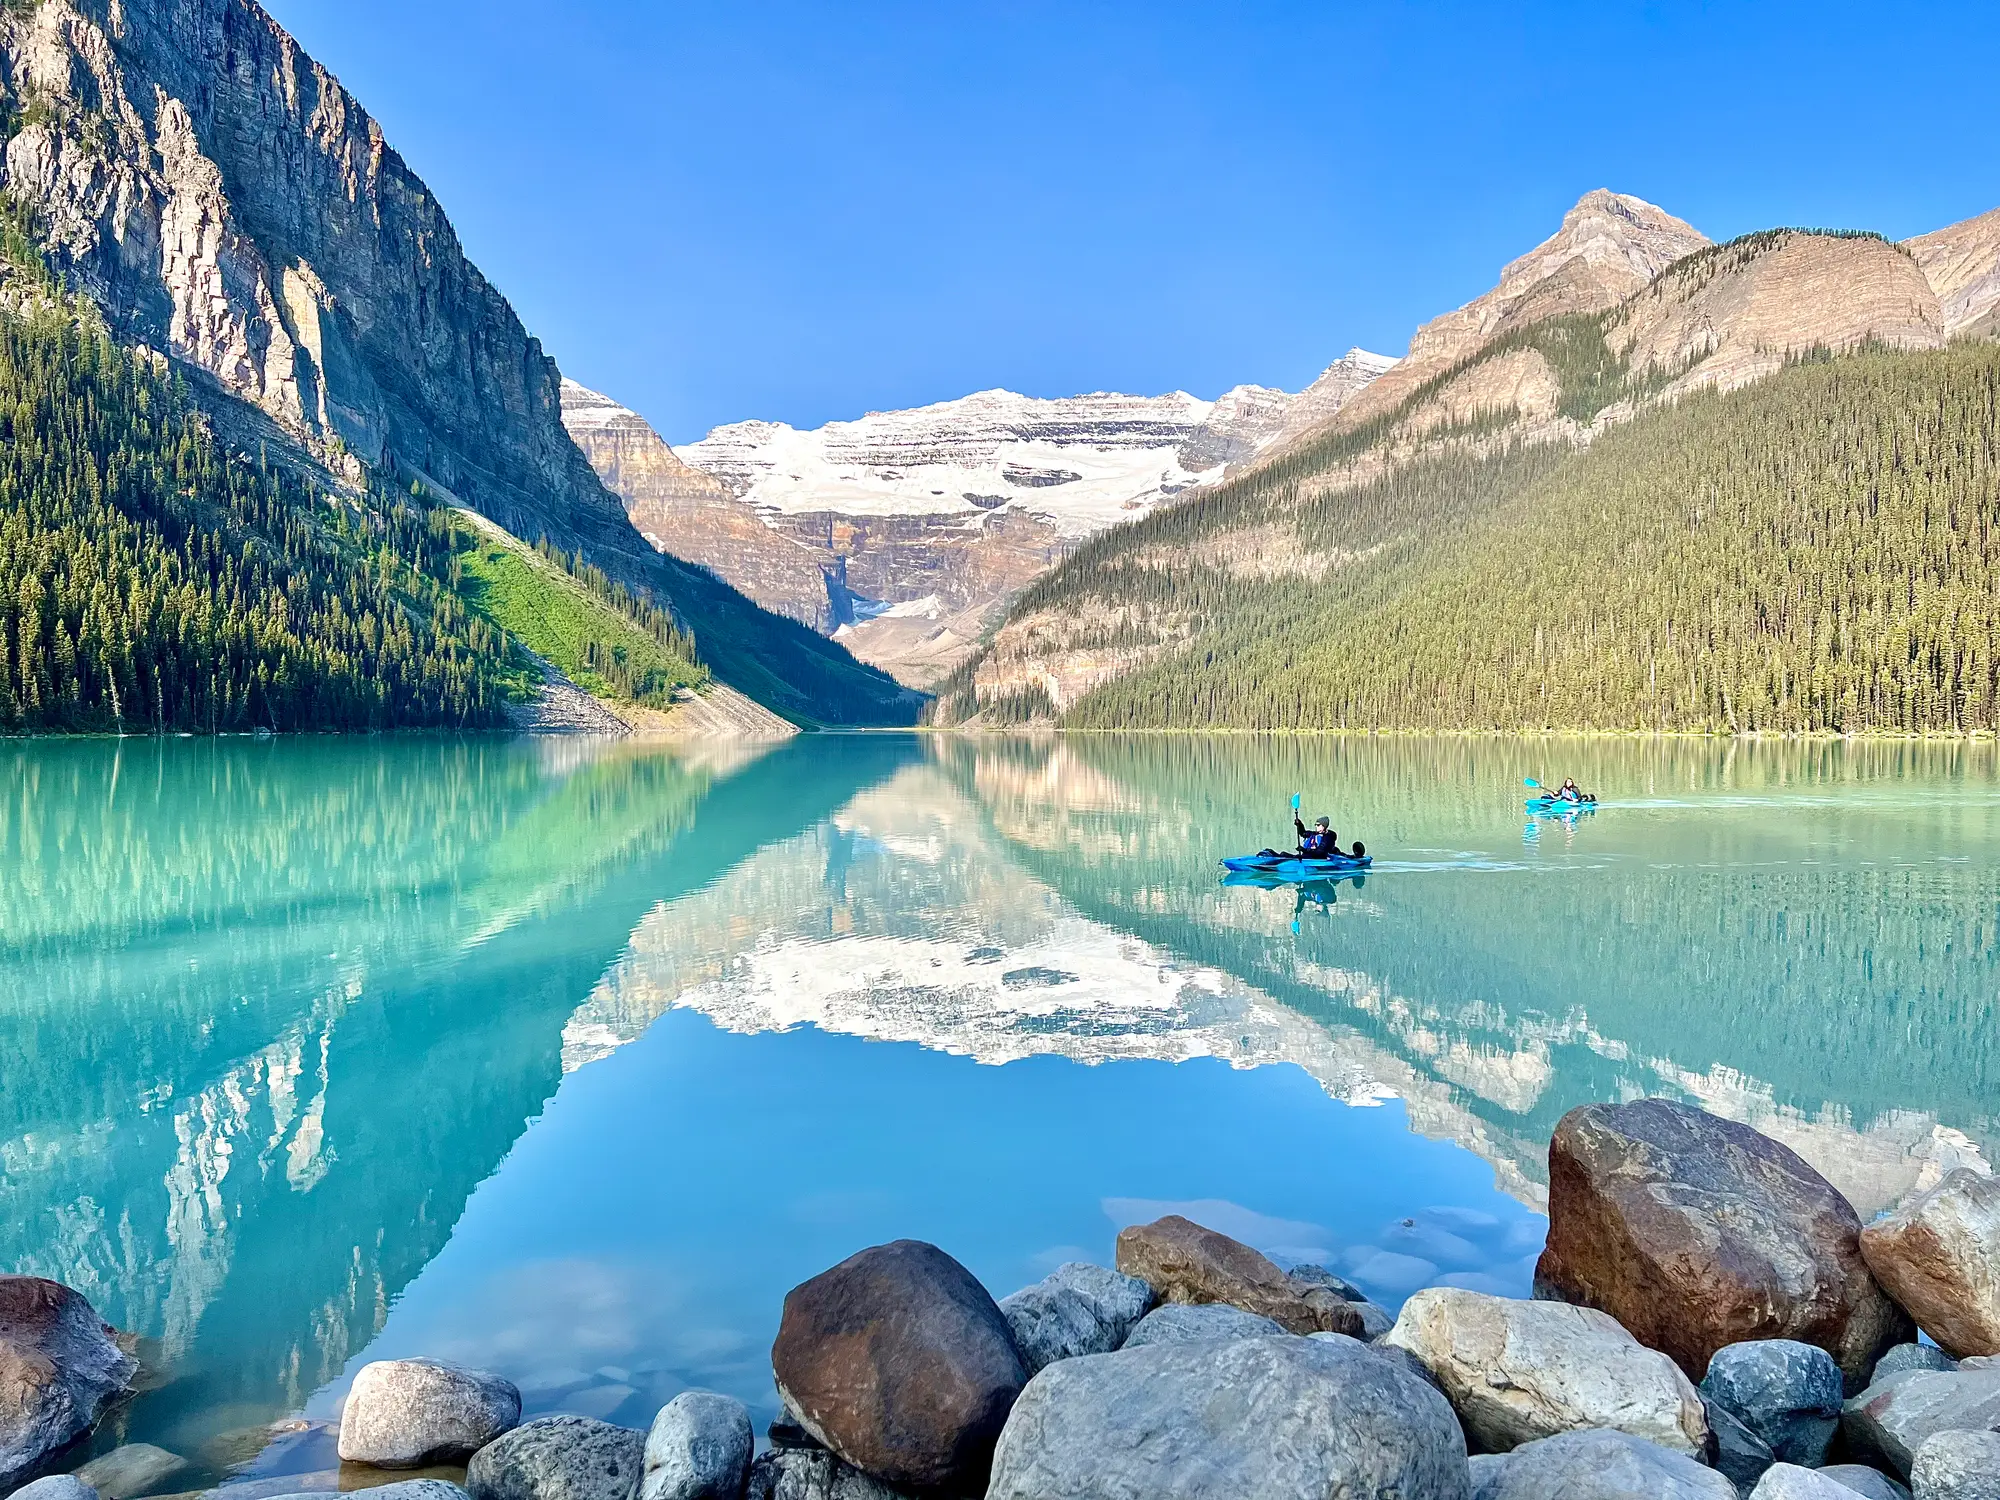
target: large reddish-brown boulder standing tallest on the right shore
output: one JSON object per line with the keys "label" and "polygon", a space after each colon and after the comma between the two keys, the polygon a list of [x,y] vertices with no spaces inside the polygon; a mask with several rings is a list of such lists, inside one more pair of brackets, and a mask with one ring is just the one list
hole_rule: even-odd
{"label": "large reddish-brown boulder standing tallest on the right shore", "polygon": [[1534,1286],[1602,1308],[1696,1380],[1728,1344],[1796,1338],[1858,1390],[1914,1332],[1826,1178],[1750,1126],[1672,1100],[1562,1116]]}

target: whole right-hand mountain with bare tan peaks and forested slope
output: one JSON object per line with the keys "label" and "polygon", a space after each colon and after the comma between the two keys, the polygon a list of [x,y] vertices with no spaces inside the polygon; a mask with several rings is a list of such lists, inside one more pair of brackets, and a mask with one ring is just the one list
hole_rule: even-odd
{"label": "whole right-hand mountain with bare tan peaks and forested slope", "polygon": [[936,716],[1990,728],[1994,348],[1944,344],[1994,242],[1590,194],[1332,420],[1078,548]]}

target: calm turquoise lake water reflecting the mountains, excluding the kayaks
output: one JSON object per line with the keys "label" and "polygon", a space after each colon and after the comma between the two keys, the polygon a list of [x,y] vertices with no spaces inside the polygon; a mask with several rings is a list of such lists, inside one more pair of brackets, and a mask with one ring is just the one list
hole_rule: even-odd
{"label": "calm turquoise lake water reflecting the mountains, excluding the kayaks", "polygon": [[[1376,870],[1224,886],[1292,792]],[[0,870],[0,1266],[154,1340],[100,1442],[176,1490],[384,1354],[768,1414],[786,1288],[896,1236],[1524,1292],[1596,1098],[1864,1214],[2000,1144],[1990,748],[8,742]]]}

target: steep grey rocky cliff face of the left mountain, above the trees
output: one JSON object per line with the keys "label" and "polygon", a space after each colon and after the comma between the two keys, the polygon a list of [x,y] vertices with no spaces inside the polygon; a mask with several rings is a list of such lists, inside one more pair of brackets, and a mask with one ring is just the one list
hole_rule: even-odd
{"label": "steep grey rocky cliff face of the left mountain, above the trees", "polygon": [[8,198],[226,446],[582,554],[794,722],[910,716],[888,678],[646,546],[562,426],[556,364],[382,128],[252,0],[6,6],[0,76]]}

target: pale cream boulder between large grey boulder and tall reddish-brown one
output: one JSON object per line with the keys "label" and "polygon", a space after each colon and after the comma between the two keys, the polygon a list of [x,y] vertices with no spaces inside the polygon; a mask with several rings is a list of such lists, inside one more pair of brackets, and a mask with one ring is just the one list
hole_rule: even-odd
{"label": "pale cream boulder between large grey boulder and tall reddish-brown one", "polygon": [[1708,1446],[1694,1384],[1594,1308],[1432,1286],[1404,1302],[1382,1344],[1430,1368],[1480,1448],[1590,1428],[1684,1454]]}

